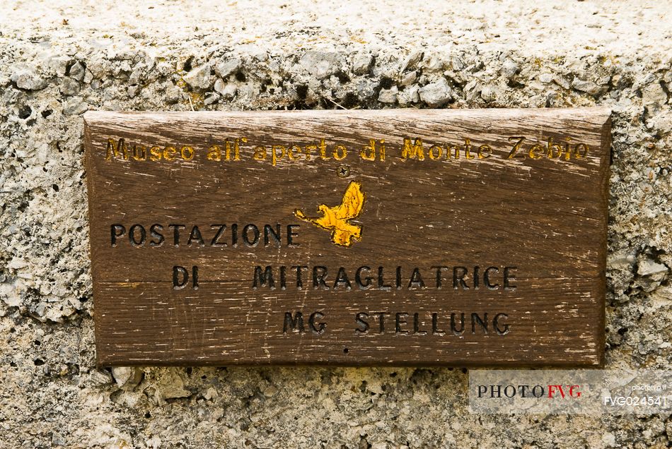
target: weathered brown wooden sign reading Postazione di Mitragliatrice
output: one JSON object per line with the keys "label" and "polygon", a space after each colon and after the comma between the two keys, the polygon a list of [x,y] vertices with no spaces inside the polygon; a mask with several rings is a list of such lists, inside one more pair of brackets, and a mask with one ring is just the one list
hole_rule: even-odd
{"label": "weathered brown wooden sign reading Postazione di Mitragliatrice", "polygon": [[600,366],[610,112],[88,112],[101,365]]}

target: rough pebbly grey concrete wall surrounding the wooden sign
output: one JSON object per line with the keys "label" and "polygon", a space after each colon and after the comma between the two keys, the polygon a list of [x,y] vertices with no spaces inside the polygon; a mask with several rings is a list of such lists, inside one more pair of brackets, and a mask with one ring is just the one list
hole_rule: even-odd
{"label": "rough pebbly grey concrete wall surrounding the wooden sign", "polygon": [[597,104],[613,108],[607,367],[669,368],[670,4],[417,3],[4,2],[0,447],[672,441],[669,414],[469,414],[463,369],[95,368],[86,110]]}

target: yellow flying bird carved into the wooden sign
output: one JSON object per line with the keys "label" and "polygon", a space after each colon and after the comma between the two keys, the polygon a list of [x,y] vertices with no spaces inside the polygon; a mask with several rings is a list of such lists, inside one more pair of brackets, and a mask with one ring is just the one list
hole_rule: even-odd
{"label": "yellow flying bird carved into the wooden sign", "polygon": [[364,193],[361,191],[361,184],[351,181],[345,189],[340,205],[333,208],[325,204],[318,205],[322,217],[306,217],[306,214],[299,209],[294,210],[294,215],[303,221],[331,231],[331,241],[347,247],[354,243],[353,239],[361,240],[361,225],[352,224],[349,220],[359,217],[363,207]]}

